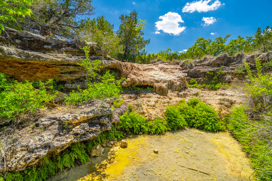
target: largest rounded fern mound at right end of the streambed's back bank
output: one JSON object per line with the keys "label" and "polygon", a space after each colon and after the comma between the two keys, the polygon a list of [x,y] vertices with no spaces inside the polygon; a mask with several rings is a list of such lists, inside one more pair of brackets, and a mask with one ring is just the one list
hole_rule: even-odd
{"label": "largest rounded fern mound at right end of the streambed's back bank", "polygon": [[220,131],[226,129],[222,120],[213,118],[218,115],[216,111],[207,104],[203,102],[197,103],[192,112],[193,118],[188,122],[189,126],[208,131]]}

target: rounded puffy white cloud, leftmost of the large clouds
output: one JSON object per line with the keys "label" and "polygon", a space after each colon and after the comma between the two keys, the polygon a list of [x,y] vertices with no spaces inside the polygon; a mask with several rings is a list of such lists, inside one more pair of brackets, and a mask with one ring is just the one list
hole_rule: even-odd
{"label": "rounded puffy white cloud, leftmost of the large clouds", "polygon": [[163,16],[160,16],[159,19],[162,21],[155,22],[157,31],[163,30],[163,32],[173,35],[179,35],[183,32],[186,27],[180,27],[179,23],[184,22],[181,16],[177,13],[168,12]]}

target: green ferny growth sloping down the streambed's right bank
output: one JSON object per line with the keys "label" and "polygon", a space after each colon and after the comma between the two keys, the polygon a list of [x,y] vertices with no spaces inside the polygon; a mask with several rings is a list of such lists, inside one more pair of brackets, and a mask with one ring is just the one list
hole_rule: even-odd
{"label": "green ferny growth sloping down the streambed's right bank", "polygon": [[[242,144],[242,148],[251,159],[250,164],[255,169],[255,175],[260,180],[272,180],[270,171],[272,170],[271,145],[271,114],[268,122],[264,120],[248,120],[244,112],[244,107],[235,107],[230,118],[227,119],[229,132]],[[268,114],[266,114],[266,117]],[[249,123],[249,124],[247,124]],[[264,124],[269,123],[270,132],[262,133]],[[268,134],[267,134],[268,133]],[[269,141],[266,139],[269,138]]]}

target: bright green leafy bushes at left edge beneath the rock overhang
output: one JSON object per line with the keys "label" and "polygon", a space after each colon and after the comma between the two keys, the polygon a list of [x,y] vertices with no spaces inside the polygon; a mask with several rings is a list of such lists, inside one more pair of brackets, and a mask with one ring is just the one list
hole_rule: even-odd
{"label": "bright green leafy bushes at left edge beneath the rock overhang", "polygon": [[33,83],[25,81],[8,81],[5,74],[0,73],[0,118],[13,118],[17,114],[28,111],[35,112],[43,108],[46,102],[54,99],[47,95],[47,89],[53,89],[53,79],[47,82],[36,82],[39,88],[34,88]]}

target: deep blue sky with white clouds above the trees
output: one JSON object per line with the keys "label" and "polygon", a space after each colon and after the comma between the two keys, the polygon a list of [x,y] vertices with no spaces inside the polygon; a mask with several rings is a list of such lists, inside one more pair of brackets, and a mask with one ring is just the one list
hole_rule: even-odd
{"label": "deep blue sky with white clouds above the trees", "polygon": [[199,37],[253,36],[258,27],[272,26],[272,0],[93,0],[93,6],[96,14],[90,18],[103,15],[115,30],[121,23],[119,16],[135,9],[138,18],[147,22],[148,53],[167,48],[183,51]]}

